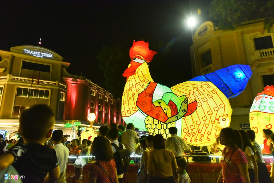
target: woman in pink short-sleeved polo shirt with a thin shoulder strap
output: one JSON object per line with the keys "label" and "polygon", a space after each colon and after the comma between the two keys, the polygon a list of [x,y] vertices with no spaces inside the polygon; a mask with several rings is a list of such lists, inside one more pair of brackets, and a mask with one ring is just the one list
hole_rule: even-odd
{"label": "woman in pink short-sleeved polo shirt with a thin shoulder strap", "polygon": [[238,148],[242,148],[242,140],[238,130],[223,128],[219,140],[225,146],[221,157],[222,170],[217,183],[250,183],[247,158]]}

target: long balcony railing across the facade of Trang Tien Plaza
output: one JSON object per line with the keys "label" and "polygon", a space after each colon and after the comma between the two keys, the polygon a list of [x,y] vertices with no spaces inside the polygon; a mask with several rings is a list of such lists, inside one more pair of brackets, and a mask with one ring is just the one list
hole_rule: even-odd
{"label": "long balcony railing across the facade of Trang Tien Plaza", "polygon": [[[13,76],[13,75],[7,75],[7,76],[1,76],[0,77],[0,81],[5,81],[5,80],[14,80],[14,81],[22,81],[22,82],[31,82],[32,79],[31,78],[27,78],[27,77],[17,77],[17,76]],[[37,84],[38,80],[33,78],[33,83]],[[61,88],[67,88],[67,85],[60,83],[59,81],[47,81],[47,80],[39,80],[39,84],[46,84],[46,85],[58,85],[58,87]]]}

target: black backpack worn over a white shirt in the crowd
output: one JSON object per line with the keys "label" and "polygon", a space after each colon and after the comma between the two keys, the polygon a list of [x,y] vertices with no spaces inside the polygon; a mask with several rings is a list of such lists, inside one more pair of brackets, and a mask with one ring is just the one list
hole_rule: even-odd
{"label": "black backpack worn over a white shirt in the crowd", "polygon": [[119,147],[114,143],[111,143],[111,145],[116,149],[116,152],[113,153],[113,159],[116,163],[117,174],[121,175],[128,171],[131,154],[129,149],[123,149],[121,142],[119,142]]}

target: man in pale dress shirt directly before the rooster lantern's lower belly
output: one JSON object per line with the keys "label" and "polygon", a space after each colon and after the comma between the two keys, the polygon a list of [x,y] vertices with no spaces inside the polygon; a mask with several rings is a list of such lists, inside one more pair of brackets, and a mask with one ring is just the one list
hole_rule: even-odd
{"label": "man in pale dress shirt directly before the rooster lantern's lower belly", "polygon": [[178,129],[176,127],[170,127],[168,132],[171,137],[166,139],[166,149],[169,149],[174,153],[176,160],[182,158],[184,150],[187,150],[191,154],[193,153],[186,142],[181,137],[177,136]]}

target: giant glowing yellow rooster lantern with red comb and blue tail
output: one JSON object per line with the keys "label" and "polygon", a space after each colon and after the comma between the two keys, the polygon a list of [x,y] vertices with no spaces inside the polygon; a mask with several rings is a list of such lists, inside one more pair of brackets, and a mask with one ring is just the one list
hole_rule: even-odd
{"label": "giant glowing yellow rooster lantern with red comb and blue tail", "polygon": [[195,146],[214,143],[221,128],[230,124],[228,98],[245,89],[250,67],[232,65],[169,88],[150,76],[147,62],[156,53],[148,43],[133,41],[131,62],[123,73],[127,77],[122,96],[124,121],[164,138],[169,136],[168,128],[175,126],[177,135]]}

